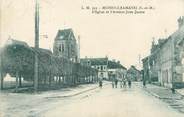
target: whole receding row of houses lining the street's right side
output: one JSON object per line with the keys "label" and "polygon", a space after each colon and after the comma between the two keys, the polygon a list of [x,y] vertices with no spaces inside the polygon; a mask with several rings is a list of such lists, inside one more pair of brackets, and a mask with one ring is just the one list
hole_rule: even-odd
{"label": "whole receding row of houses lining the street's right side", "polygon": [[169,88],[184,87],[184,17],[178,19],[178,29],[166,39],[152,44],[151,54],[143,59],[144,76]]}

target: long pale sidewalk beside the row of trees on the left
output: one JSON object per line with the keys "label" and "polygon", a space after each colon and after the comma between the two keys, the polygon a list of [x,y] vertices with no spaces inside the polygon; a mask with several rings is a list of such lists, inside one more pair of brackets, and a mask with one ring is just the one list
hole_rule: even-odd
{"label": "long pale sidewalk beside the row of trees on the left", "polygon": [[[103,86],[109,84],[110,82],[103,81]],[[42,91],[38,93],[10,93],[7,91],[0,92],[0,99],[2,97],[6,97],[7,95],[11,95],[12,97],[20,97],[20,98],[64,98],[64,97],[72,97],[76,96],[90,90],[94,90],[99,88],[98,83],[94,84],[81,84],[76,87],[68,87],[68,88],[61,88],[58,90],[49,90],[49,91]],[[8,98],[12,98],[12,97]]]}

